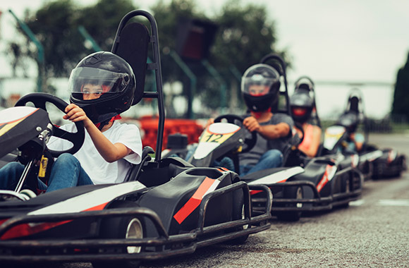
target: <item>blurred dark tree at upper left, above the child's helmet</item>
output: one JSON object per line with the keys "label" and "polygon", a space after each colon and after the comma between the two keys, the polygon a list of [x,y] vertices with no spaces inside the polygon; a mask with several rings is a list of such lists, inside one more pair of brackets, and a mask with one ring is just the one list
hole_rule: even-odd
{"label": "blurred dark tree at upper left, above the child's helmet", "polygon": [[[35,13],[29,12],[25,23],[44,47],[46,77],[68,77],[76,63],[93,52],[84,46],[78,26],[83,25],[102,49],[109,51],[121,18],[133,9],[130,0],[99,0],[94,6],[85,8],[79,8],[72,0],[59,0],[47,2]],[[16,62],[19,57],[36,59],[37,51],[18,51],[21,52],[14,55]]]}

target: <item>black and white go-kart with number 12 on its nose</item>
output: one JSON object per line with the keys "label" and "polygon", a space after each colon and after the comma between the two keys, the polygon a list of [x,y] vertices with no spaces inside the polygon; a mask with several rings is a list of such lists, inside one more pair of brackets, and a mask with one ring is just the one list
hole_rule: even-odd
{"label": "black and white go-kart with number 12 on its nose", "polygon": [[[273,111],[291,115],[286,65],[275,54],[265,56],[261,63],[268,61],[274,61],[273,66],[279,70],[284,82],[280,91],[280,105]],[[233,160],[233,169],[238,171],[238,154],[251,150],[257,139],[256,133],[249,133],[243,128],[242,121],[242,117],[231,114],[215,118],[215,123],[203,131],[188,162],[194,166],[212,166],[228,157]],[[167,150],[168,154],[186,154],[182,149],[181,135],[176,135],[170,141],[171,147],[175,149]],[[271,189],[274,195],[271,212],[281,220],[296,221],[302,212],[346,207],[362,193],[362,174],[356,168],[358,154],[345,156],[337,153],[310,159],[297,149],[301,141],[294,130],[291,141],[283,150],[282,167],[240,177],[248,185],[265,185]],[[265,209],[265,193],[252,190],[251,197],[254,209]]]}

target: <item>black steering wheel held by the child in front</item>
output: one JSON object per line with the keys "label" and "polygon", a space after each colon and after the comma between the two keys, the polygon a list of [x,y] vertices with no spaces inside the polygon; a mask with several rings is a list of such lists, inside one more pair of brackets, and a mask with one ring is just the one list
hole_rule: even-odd
{"label": "black steering wheel held by the child in front", "polygon": [[[45,104],[46,102],[49,102],[51,104],[54,104],[54,106],[56,106],[64,113],[66,106],[68,105],[59,97],[55,97],[47,93],[31,93],[21,97],[18,102],[16,102],[15,106],[25,106],[28,102],[32,102],[36,108],[43,109],[44,111],[47,111]],[[72,133],[52,125],[52,135],[73,143],[73,147],[68,150],[49,150],[53,157],[59,157],[60,154],[66,152],[68,152],[69,154],[75,154],[75,152],[78,152],[78,150],[80,150],[80,148],[83,146],[85,139],[84,123],[83,121],[75,122],[75,126],[77,128],[77,132]]]}

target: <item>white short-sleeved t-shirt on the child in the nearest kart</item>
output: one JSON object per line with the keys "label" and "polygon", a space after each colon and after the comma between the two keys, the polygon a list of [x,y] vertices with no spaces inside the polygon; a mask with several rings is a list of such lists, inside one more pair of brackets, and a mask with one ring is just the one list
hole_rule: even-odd
{"label": "white short-sleeved t-shirt on the child in the nearest kart", "polygon": [[[70,123],[61,126],[61,129],[68,132],[76,132],[75,124]],[[87,130],[85,130],[85,140],[83,147],[73,154],[81,166],[90,176],[94,184],[121,183],[126,178],[132,164],[139,164],[142,156],[142,140],[137,126],[114,121],[111,128],[102,134],[112,143],[122,143],[133,152],[116,162],[106,162],[99,154],[97,148],[91,140]],[[68,150],[73,145],[67,140],[51,137],[47,147],[51,150]]]}

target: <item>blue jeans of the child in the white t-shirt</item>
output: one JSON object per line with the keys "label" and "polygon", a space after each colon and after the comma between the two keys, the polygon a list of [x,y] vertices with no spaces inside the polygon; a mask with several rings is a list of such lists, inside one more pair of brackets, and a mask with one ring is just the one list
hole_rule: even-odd
{"label": "blue jeans of the child in the white t-shirt", "polygon": [[[0,169],[0,189],[14,190],[23,173],[24,166],[18,162],[11,162]],[[51,169],[48,187],[38,180],[39,190],[51,192],[62,188],[94,184],[90,176],[81,167],[80,162],[72,154],[61,154]]]}

